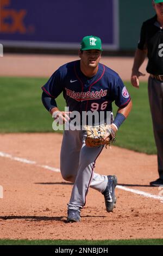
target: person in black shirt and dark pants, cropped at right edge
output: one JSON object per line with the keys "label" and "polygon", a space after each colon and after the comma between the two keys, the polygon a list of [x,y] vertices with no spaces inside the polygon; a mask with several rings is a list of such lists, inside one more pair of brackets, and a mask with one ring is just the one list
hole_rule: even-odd
{"label": "person in black shirt and dark pants, cropped at right edge", "polygon": [[150,182],[151,186],[163,186],[163,1],[153,1],[156,15],[142,24],[140,41],[135,52],[131,83],[139,88],[139,71],[146,56],[148,96],[151,107],[154,138],[158,155],[159,178]]}

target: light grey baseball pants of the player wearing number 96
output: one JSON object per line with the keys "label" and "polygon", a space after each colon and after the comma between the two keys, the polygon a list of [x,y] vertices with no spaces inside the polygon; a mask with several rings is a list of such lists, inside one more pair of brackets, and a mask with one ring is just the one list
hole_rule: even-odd
{"label": "light grey baseball pants of the player wearing number 96", "polygon": [[80,210],[86,203],[89,187],[103,192],[108,184],[106,175],[93,172],[103,146],[88,148],[84,131],[64,131],[60,154],[62,178],[74,182],[68,209]]}

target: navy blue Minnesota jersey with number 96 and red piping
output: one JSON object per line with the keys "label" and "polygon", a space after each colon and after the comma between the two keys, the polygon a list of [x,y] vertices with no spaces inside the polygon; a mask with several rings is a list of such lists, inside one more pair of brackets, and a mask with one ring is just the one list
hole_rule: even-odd
{"label": "navy blue Minnesota jersey with number 96 and red piping", "polygon": [[80,60],[60,66],[42,90],[54,99],[63,93],[70,111],[112,111],[112,102],[118,107],[130,102],[130,95],[120,76],[99,63],[98,72],[86,77],[80,71]]}

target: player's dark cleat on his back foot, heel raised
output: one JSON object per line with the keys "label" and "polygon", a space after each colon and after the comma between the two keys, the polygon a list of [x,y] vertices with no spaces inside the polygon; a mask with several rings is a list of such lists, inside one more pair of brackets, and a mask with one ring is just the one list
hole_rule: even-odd
{"label": "player's dark cleat on his back foot, heel raised", "polygon": [[102,193],[105,198],[106,211],[111,212],[115,208],[117,198],[115,196],[115,187],[117,185],[117,177],[115,175],[108,175],[108,184],[105,191]]}

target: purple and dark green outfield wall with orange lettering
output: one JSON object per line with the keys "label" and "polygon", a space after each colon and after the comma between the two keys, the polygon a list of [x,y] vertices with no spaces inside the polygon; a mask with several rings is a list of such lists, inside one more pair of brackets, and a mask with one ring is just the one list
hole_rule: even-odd
{"label": "purple and dark green outfield wall with orange lettering", "polygon": [[134,50],[142,21],[152,15],[149,0],[0,0],[0,43],[78,49],[92,34],[101,37],[104,50]]}

